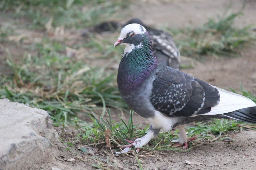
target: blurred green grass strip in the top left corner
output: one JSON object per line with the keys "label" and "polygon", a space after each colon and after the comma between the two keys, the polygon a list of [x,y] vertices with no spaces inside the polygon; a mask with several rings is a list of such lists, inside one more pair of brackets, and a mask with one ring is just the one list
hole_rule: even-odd
{"label": "blurred green grass strip in the top left corner", "polygon": [[88,27],[111,18],[128,1],[121,0],[3,0],[0,9],[31,20],[30,27]]}

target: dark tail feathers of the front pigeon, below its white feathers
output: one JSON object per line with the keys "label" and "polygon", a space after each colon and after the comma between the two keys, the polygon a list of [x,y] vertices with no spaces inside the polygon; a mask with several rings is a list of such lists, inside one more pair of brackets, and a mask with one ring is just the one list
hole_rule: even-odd
{"label": "dark tail feathers of the front pigeon, below its white feathers", "polygon": [[239,109],[230,113],[222,114],[226,118],[240,120],[247,123],[256,124],[256,106]]}

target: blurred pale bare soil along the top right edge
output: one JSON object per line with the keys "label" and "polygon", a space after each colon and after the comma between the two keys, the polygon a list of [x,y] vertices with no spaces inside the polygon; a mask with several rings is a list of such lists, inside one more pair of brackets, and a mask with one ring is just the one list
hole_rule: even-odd
{"label": "blurred pale bare soil along the top right edge", "polygon": [[[197,27],[208,21],[223,16],[225,10],[232,6],[228,13],[243,10],[244,16],[235,23],[243,27],[256,23],[256,2],[254,0],[143,0],[132,5],[129,14],[141,18],[145,23],[168,27]],[[256,25],[255,25],[256,26]]]}

